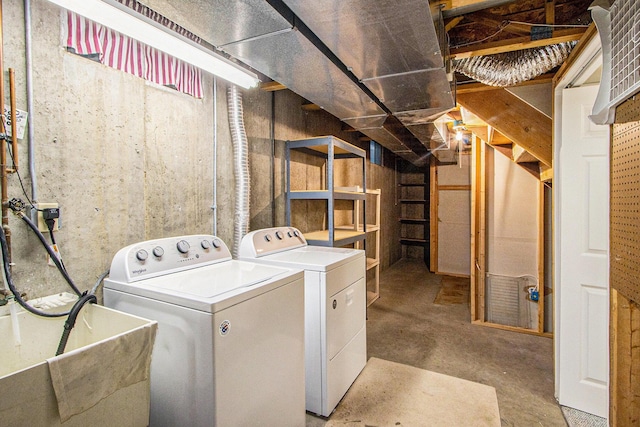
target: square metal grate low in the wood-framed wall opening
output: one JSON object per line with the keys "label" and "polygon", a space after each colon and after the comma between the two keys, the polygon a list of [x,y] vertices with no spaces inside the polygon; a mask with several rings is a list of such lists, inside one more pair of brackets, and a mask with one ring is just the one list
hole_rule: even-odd
{"label": "square metal grate low in the wood-framed wall opening", "polygon": [[502,276],[487,274],[487,321],[505,326],[533,328],[529,288],[536,288],[531,276]]}

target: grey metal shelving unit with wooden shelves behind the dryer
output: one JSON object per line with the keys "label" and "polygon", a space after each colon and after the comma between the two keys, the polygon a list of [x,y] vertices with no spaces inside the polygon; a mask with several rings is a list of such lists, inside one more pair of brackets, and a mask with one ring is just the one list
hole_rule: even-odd
{"label": "grey metal shelving unit with wooden shelves behind the dryer", "polygon": [[[312,190],[291,190],[291,150],[300,151],[325,160],[327,185],[326,188]],[[362,159],[362,185],[350,187],[349,190],[338,189],[334,185],[334,162],[340,159]],[[286,205],[285,219],[287,225],[291,224],[292,200],[326,200],[327,224],[323,230],[304,233],[307,243],[315,246],[345,246],[355,244],[365,239],[368,231],[366,221],[359,226],[336,227],[334,221],[335,201],[352,200],[354,210],[358,209],[359,201],[363,204],[363,213],[366,212],[366,176],[365,176],[365,151],[351,145],[334,136],[320,136],[287,141],[285,150],[286,160]],[[355,191],[351,191],[355,190]],[[295,224],[293,224],[295,226]]]}

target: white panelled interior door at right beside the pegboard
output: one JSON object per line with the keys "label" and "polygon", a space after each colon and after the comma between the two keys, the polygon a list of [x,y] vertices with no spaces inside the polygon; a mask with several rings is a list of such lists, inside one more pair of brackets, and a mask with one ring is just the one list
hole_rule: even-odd
{"label": "white panelled interior door at right beside the pegboard", "polygon": [[[561,405],[607,417],[609,407],[609,128],[588,115],[597,85],[564,89],[558,191],[557,344]],[[558,277],[558,276],[556,276]]]}

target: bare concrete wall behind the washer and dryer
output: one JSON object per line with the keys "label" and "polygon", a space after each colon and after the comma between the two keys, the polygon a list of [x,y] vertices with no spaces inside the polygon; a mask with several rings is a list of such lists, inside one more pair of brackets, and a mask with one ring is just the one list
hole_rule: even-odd
{"label": "bare concrete wall behind the washer and dryer", "polygon": [[[174,9],[169,4],[155,0],[150,5],[169,14]],[[184,5],[193,5],[198,11],[202,2]],[[188,14],[182,13],[180,23],[189,28],[188,22],[182,21]],[[203,74],[205,96],[195,99],[67,53],[61,44],[61,11],[44,0],[32,0],[31,19],[35,111],[30,112],[29,119],[35,126],[37,201],[60,205],[62,229],[56,240],[78,287],[90,288],[109,268],[115,252],[128,244],[212,233],[213,77]],[[4,2],[4,68],[16,70],[17,104],[26,110],[23,22],[23,3]],[[202,35],[198,30],[194,32]],[[218,235],[231,245],[233,151],[226,113],[227,84],[218,80],[217,86]],[[8,103],[8,83],[6,87]],[[270,136],[272,97],[275,146]],[[288,90],[244,92],[252,229],[284,224],[284,141],[332,134],[358,143],[356,134],[342,131],[340,121],[328,113],[302,110],[303,101]],[[26,139],[19,145],[20,174],[30,195]],[[296,179],[311,174],[313,166],[306,165],[308,159],[299,157],[295,161]],[[383,189],[385,268],[401,256],[397,207],[393,203],[393,164],[379,167],[366,163],[368,186]],[[350,176],[354,172],[347,168],[338,173]],[[8,192],[9,198],[26,200],[15,174],[9,176]],[[312,207],[302,209],[302,217],[309,216],[309,209],[313,211]],[[67,290],[22,221],[11,215],[9,225],[18,288],[28,298]]]}

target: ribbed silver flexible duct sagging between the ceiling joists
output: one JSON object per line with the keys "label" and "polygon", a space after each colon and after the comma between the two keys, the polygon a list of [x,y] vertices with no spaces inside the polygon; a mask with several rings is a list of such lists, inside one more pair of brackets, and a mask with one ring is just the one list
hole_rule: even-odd
{"label": "ribbed silver flexible duct sagging between the ceiling joists", "polygon": [[507,87],[531,80],[562,64],[576,42],[565,42],[455,61],[455,70],[489,86]]}

